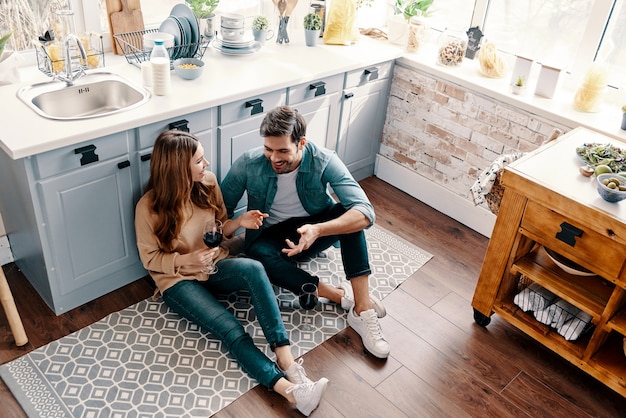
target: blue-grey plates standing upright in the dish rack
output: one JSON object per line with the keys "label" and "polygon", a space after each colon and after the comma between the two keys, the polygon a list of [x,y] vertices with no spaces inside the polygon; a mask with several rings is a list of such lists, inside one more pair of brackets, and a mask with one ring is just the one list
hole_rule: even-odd
{"label": "blue-grey plates standing upright in the dish rack", "polygon": [[174,47],[170,48],[170,58],[190,58],[198,52],[200,44],[200,24],[193,11],[184,3],[172,8],[170,15],[161,23],[159,32],[174,36]]}

